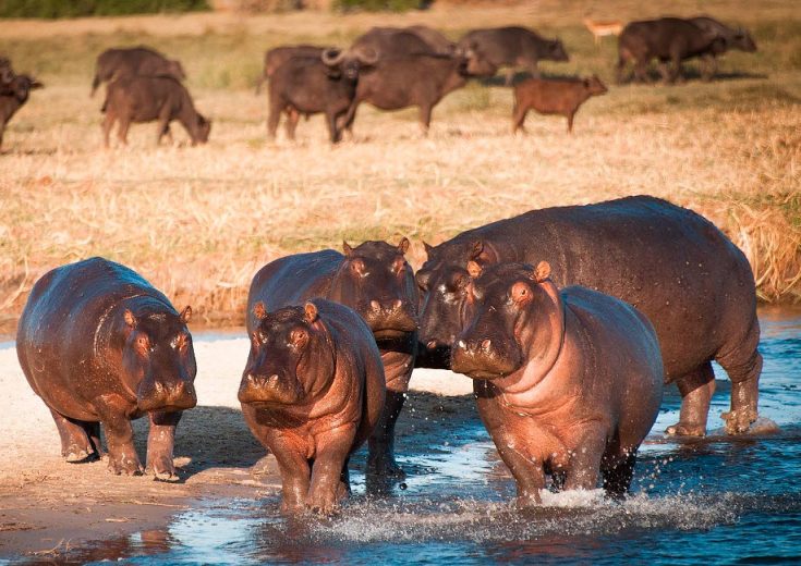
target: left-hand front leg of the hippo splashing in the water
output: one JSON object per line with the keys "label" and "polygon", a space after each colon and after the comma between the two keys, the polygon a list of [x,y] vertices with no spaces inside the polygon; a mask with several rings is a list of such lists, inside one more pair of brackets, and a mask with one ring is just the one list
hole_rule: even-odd
{"label": "left-hand front leg of the hippo splashing in the water", "polygon": [[513,431],[525,430],[525,419],[506,410],[494,397],[486,383],[473,382],[478,415],[498,448],[498,455],[518,485],[518,506],[531,507],[542,503],[539,491],[545,489],[544,462],[525,454],[530,440]]}

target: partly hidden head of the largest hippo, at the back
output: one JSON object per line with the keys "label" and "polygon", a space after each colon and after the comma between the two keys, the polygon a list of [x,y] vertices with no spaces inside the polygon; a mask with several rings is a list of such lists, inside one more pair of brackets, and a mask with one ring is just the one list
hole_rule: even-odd
{"label": "partly hidden head of the largest hippo, at the back", "polygon": [[415,275],[421,293],[422,352],[427,352],[434,359],[450,359],[450,346],[462,331],[464,322],[471,280],[465,266],[471,260],[481,264],[495,262],[497,257],[494,248],[481,239],[466,242],[457,249],[423,245],[428,259]]}

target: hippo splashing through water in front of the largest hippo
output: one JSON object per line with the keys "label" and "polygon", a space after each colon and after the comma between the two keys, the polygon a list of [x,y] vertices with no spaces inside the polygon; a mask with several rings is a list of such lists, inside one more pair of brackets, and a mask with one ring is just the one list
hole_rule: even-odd
{"label": "hippo splashing through water in front of the largest hippo", "polygon": [[[614,268],[611,268],[614,269]],[[662,404],[651,322],[596,291],[557,288],[550,266],[468,264],[465,328],[452,369],[475,380],[478,413],[518,483],[541,503],[545,473],[566,490],[629,489],[636,451]]]}

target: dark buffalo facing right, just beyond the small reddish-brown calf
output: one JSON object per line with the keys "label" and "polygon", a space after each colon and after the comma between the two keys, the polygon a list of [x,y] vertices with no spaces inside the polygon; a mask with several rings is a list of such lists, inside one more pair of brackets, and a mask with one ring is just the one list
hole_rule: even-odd
{"label": "dark buffalo facing right, just beyond the small reddish-brown calf", "polygon": [[525,27],[474,29],[459,40],[459,46],[465,50],[472,49],[496,67],[511,67],[506,77],[507,86],[512,84],[515,67],[523,67],[532,75],[539,76],[537,62],[569,59],[559,39],[545,39]]}

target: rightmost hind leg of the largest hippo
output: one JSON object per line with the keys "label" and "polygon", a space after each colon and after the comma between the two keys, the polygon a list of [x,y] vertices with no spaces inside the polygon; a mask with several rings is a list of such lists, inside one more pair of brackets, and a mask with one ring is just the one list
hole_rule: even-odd
{"label": "rightmost hind leg of the largest hippo", "polygon": [[762,355],[756,349],[758,343],[760,323],[754,320],[745,340],[738,347],[715,358],[731,380],[731,409],[721,415],[729,434],[747,432],[757,417],[762,373]]}

